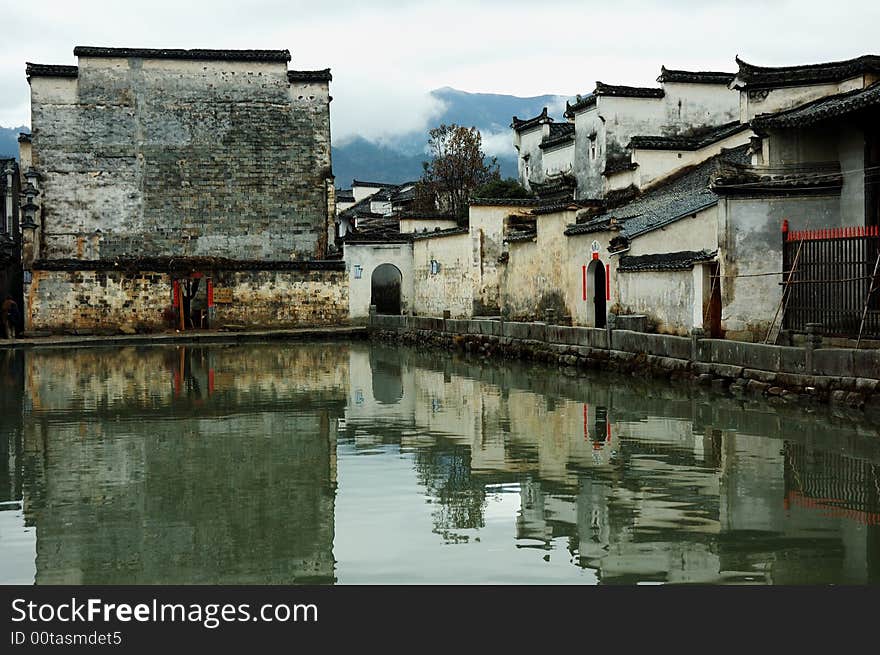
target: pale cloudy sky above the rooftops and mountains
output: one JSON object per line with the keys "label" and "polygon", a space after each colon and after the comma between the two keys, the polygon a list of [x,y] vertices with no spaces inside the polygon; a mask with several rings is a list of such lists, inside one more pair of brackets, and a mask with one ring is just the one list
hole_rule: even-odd
{"label": "pale cloudy sky above the rooftops and mountains", "polygon": [[877,0],[0,0],[0,126],[29,124],[25,61],[75,45],[288,48],[332,68],[334,140],[428,126],[428,91],[574,95],[668,68],[734,70],[880,54]]}

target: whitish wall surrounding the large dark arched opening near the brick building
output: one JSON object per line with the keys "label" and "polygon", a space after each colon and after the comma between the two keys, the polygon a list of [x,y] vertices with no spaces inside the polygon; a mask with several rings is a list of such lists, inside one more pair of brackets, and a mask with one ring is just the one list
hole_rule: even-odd
{"label": "whitish wall surrounding the large dark arched opening near the brick building", "polygon": [[[352,321],[364,320],[370,315],[371,280],[373,271],[381,264],[393,264],[401,273],[400,311],[408,314],[413,301],[413,255],[412,244],[345,244],[343,254],[348,273],[348,304]],[[356,278],[355,267],[361,267],[361,277]]]}

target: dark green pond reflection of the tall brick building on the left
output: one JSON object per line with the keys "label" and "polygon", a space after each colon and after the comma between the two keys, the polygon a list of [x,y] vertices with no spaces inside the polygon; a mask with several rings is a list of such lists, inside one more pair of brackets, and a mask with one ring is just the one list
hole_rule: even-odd
{"label": "dark green pond reflection of the tall brick building on the left", "polygon": [[38,583],[333,580],[346,348],[27,356]]}

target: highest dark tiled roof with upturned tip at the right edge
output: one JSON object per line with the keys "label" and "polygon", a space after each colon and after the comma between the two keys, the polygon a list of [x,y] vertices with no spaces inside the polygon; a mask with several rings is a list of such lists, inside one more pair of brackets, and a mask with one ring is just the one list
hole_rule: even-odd
{"label": "highest dark tiled roof with upturned tip at the right edge", "polygon": [[753,66],[739,57],[736,63],[739,64],[739,72],[734,80],[735,86],[750,89],[840,82],[866,73],[880,73],[878,55],[805,66]]}

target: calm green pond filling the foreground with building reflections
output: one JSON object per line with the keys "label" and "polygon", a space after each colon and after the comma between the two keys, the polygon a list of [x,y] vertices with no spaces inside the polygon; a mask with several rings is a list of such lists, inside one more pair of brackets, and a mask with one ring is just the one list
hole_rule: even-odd
{"label": "calm green pond filling the foreground with building reflections", "polygon": [[877,583],[880,434],[368,343],[0,350],[0,583]]}

